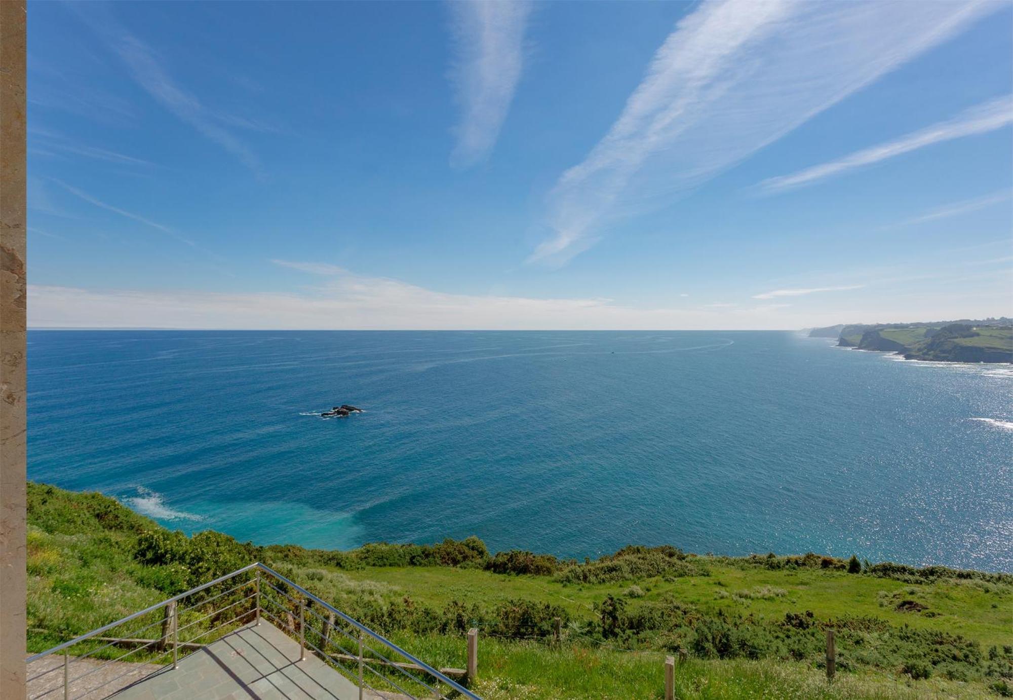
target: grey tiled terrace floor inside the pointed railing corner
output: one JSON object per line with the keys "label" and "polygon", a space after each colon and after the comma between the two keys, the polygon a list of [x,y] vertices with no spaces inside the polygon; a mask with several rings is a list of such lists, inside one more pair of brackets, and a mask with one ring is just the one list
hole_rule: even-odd
{"label": "grey tiled terrace floor inside the pointed railing corner", "polygon": [[[247,625],[115,695],[118,700],[358,700],[359,688],[267,621]],[[368,697],[373,697],[368,694]]]}

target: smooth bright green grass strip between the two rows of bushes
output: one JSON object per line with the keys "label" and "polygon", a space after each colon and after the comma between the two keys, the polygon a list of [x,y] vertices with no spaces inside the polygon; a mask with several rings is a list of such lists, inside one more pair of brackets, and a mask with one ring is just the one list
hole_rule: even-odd
{"label": "smooth bright green grass strip between the two rows of bushes", "polygon": [[[1013,627],[1013,587],[980,581],[943,581],[910,584],[888,578],[856,576],[840,571],[779,570],[742,567],[714,558],[707,562],[709,576],[688,576],[666,581],[640,579],[644,590],[638,602],[658,602],[674,596],[679,601],[710,611],[753,614],[776,621],[785,613],[809,610],[819,619],[844,616],[877,617],[895,625],[957,632],[985,646],[1008,644]],[[410,596],[419,603],[442,608],[451,601],[487,604],[501,599],[527,599],[558,605],[574,616],[588,617],[594,604],[608,594],[620,597],[632,580],[600,584],[564,584],[547,576],[494,574],[475,569],[447,567],[367,567],[345,571],[350,581],[381,584],[386,600]],[[783,596],[735,596],[758,588],[784,590]],[[721,592],[732,593],[728,598]],[[927,606],[922,613],[901,612],[889,600],[915,600]]]}

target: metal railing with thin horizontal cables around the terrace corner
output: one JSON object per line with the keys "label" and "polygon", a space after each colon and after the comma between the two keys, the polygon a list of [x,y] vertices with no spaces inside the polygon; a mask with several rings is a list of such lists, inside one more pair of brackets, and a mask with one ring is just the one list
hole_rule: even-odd
{"label": "metal railing with thin horizontal cables around the terrace corner", "polygon": [[[443,671],[259,562],[28,656],[28,697],[109,697],[128,685],[177,669],[181,656],[243,627],[258,626],[262,619],[299,642],[300,661],[312,653],[350,680],[358,700],[395,696],[481,700]],[[157,636],[143,634],[156,625],[161,626]],[[185,630],[191,630],[191,636],[184,641],[180,633]],[[118,654],[124,646],[133,648]],[[130,660],[141,663],[127,669],[111,666],[132,656]],[[103,669],[112,677],[95,676]],[[54,676],[58,672],[62,674]]]}

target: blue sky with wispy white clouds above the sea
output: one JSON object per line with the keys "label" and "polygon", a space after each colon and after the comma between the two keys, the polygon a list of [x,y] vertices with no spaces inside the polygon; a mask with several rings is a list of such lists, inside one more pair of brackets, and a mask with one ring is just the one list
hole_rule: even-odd
{"label": "blue sky with wispy white clouds above the sea", "polygon": [[31,2],[28,325],[1013,316],[1013,2]]}

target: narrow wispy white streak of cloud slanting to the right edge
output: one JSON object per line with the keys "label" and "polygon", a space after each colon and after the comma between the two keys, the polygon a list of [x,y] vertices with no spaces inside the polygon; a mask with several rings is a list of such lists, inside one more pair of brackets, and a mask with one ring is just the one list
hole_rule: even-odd
{"label": "narrow wispy white streak of cloud slanting to the right edge", "polygon": [[1006,95],[972,107],[954,119],[920,129],[897,140],[864,148],[838,160],[813,165],[792,174],[770,178],[760,183],[758,187],[764,192],[771,193],[812,185],[827,178],[873,165],[919,148],[966,136],[987,134],[1011,124],[1013,124],[1013,95]]}

